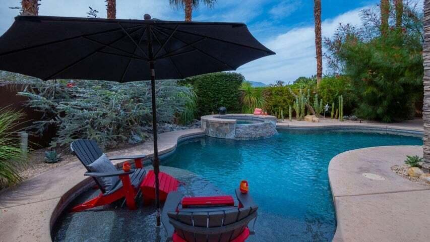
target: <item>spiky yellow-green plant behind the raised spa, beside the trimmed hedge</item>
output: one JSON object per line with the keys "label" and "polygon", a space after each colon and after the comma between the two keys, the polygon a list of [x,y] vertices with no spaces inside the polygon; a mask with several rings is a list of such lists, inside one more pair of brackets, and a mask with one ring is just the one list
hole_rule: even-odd
{"label": "spiky yellow-green plant behind the raised spa, beside the trimmed hedge", "polygon": [[266,98],[261,90],[253,88],[250,82],[243,82],[240,88],[242,90],[242,111],[252,113],[255,108],[263,108],[266,104]]}

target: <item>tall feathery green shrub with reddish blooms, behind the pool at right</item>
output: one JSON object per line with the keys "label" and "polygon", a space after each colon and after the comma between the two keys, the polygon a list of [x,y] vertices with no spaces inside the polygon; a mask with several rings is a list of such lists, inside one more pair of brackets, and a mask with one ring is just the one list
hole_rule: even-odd
{"label": "tall feathery green shrub with reddish blooms, behind the pool at right", "polygon": [[407,119],[422,98],[422,14],[408,4],[404,10],[403,25],[384,35],[378,14],[370,9],[362,11],[363,28],[340,25],[334,37],[325,40],[329,66],[351,81],[359,117]]}

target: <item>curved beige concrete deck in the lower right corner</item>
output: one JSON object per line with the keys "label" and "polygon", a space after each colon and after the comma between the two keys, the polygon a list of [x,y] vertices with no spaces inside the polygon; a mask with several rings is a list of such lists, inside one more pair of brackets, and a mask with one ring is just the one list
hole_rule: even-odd
{"label": "curved beige concrete deck in the lower right corner", "polygon": [[430,187],[391,170],[403,164],[406,155],[422,156],[422,146],[370,147],[332,158],[328,175],[337,220],[333,241],[428,241]]}

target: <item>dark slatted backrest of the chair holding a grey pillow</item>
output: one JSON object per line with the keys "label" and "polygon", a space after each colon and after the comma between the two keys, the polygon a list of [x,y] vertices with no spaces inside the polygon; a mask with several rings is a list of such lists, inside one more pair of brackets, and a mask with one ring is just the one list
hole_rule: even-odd
{"label": "dark slatted backrest of the chair holding a grey pillow", "polygon": [[[103,154],[94,140],[76,140],[72,142],[70,149],[89,172],[91,172],[91,170],[88,168],[88,165],[96,161]],[[97,178],[93,178],[101,192],[104,193],[105,190],[100,185]]]}

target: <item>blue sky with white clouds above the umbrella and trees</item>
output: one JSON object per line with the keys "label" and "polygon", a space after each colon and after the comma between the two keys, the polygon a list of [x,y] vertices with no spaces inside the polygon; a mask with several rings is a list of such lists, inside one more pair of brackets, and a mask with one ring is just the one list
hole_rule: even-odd
{"label": "blue sky with white clouds above the umbrella and trees", "polygon": [[[339,22],[360,24],[363,8],[380,0],[322,0],[323,38],[330,37]],[[420,1],[422,2],[422,1]],[[104,0],[42,0],[39,15],[86,17],[88,7],[106,18]],[[0,35],[13,23],[20,0],[0,0]],[[251,33],[276,55],[257,59],[237,69],[245,79],[265,84],[276,80],[289,83],[300,76],[316,74],[314,1],[312,0],[218,0],[213,8],[200,6],[194,21],[243,22]],[[143,19],[144,14],[161,20],[183,20],[182,9],[173,9],[169,0],[117,0],[118,19]],[[327,68],[324,65],[324,73]]]}

